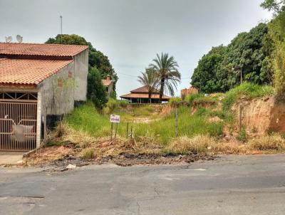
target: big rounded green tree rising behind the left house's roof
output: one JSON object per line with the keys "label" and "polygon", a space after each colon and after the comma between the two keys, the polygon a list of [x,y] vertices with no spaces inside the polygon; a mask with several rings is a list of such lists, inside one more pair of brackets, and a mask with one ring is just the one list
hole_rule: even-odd
{"label": "big rounded green tree rising behind the left house's roof", "polygon": [[87,42],[85,38],[82,36],[78,36],[76,34],[58,34],[55,38],[48,38],[46,43],[50,44],[65,44],[65,45],[78,45],[78,46],[89,46],[89,70],[93,67],[98,68],[100,72],[100,77],[105,79],[107,75],[114,80],[114,90],[115,84],[118,81],[118,75],[115,73],[113,66],[110,64],[110,61],[107,56],[105,56],[102,52],[97,51],[91,43]]}

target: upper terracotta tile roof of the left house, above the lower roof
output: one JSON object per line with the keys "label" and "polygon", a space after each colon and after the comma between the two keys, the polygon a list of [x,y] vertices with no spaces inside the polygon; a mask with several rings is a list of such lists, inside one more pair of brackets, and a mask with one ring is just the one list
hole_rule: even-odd
{"label": "upper terracotta tile roof of the left house, above the lower roof", "polygon": [[36,43],[0,43],[2,56],[57,56],[73,57],[88,49],[88,46]]}

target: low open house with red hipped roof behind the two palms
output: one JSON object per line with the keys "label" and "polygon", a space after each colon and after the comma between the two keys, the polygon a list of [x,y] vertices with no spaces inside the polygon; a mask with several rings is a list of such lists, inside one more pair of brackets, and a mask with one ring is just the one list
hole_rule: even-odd
{"label": "low open house with red hipped roof behind the two palms", "polygon": [[[127,95],[121,95],[120,98],[129,100],[130,103],[150,103],[148,98],[147,86],[130,91]],[[162,96],[162,102],[168,102],[170,97],[167,95]],[[151,95],[151,103],[160,103],[160,91],[154,90]]]}

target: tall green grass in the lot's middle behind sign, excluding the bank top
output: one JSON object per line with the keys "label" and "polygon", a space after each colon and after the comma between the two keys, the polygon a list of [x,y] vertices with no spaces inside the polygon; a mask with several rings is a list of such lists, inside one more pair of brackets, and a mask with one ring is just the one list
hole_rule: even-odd
{"label": "tall green grass in the lot's middle behind sign, excluding the bank top", "polygon": [[[152,109],[150,106],[135,108],[133,115],[129,115],[122,110],[121,123],[118,125],[118,135],[125,137],[127,122],[131,117],[135,118],[141,110],[146,114]],[[147,112],[149,111],[149,112]],[[142,115],[140,112],[139,115]],[[128,116],[128,117],[126,117]],[[100,115],[93,105],[87,103],[76,108],[65,121],[74,130],[83,130],[93,137],[106,137],[110,133],[109,115]],[[155,137],[162,145],[167,145],[175,137],[175,114],[162,117],[162,119],[148,124],[130,123],[133,126],[135,138],[145,137],[146,135]],[[195,135],[210,135],[217,137],[222,134],[224,124],[222,122],[207,122],[207,110],[200,108],[195,115],[190,115],[190,108],[182,107],[178,109],[178,134],[179,136],[193,137]]]}

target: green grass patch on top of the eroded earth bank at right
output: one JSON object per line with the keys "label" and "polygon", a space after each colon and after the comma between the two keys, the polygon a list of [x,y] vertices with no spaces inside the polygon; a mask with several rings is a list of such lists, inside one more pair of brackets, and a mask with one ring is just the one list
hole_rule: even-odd
{"label": "green grass patch on top of the eroded earth bank at right", "polygon": [[242,85],[237,86],[225,93],[223,101],[224,110],[229,110],[235,101],[237,101],[242,96],[248,99],[261,98],[266,95],[274,95],[274,88],[271,86],[261,86],[255,85],[253,83],[242,83]]}

